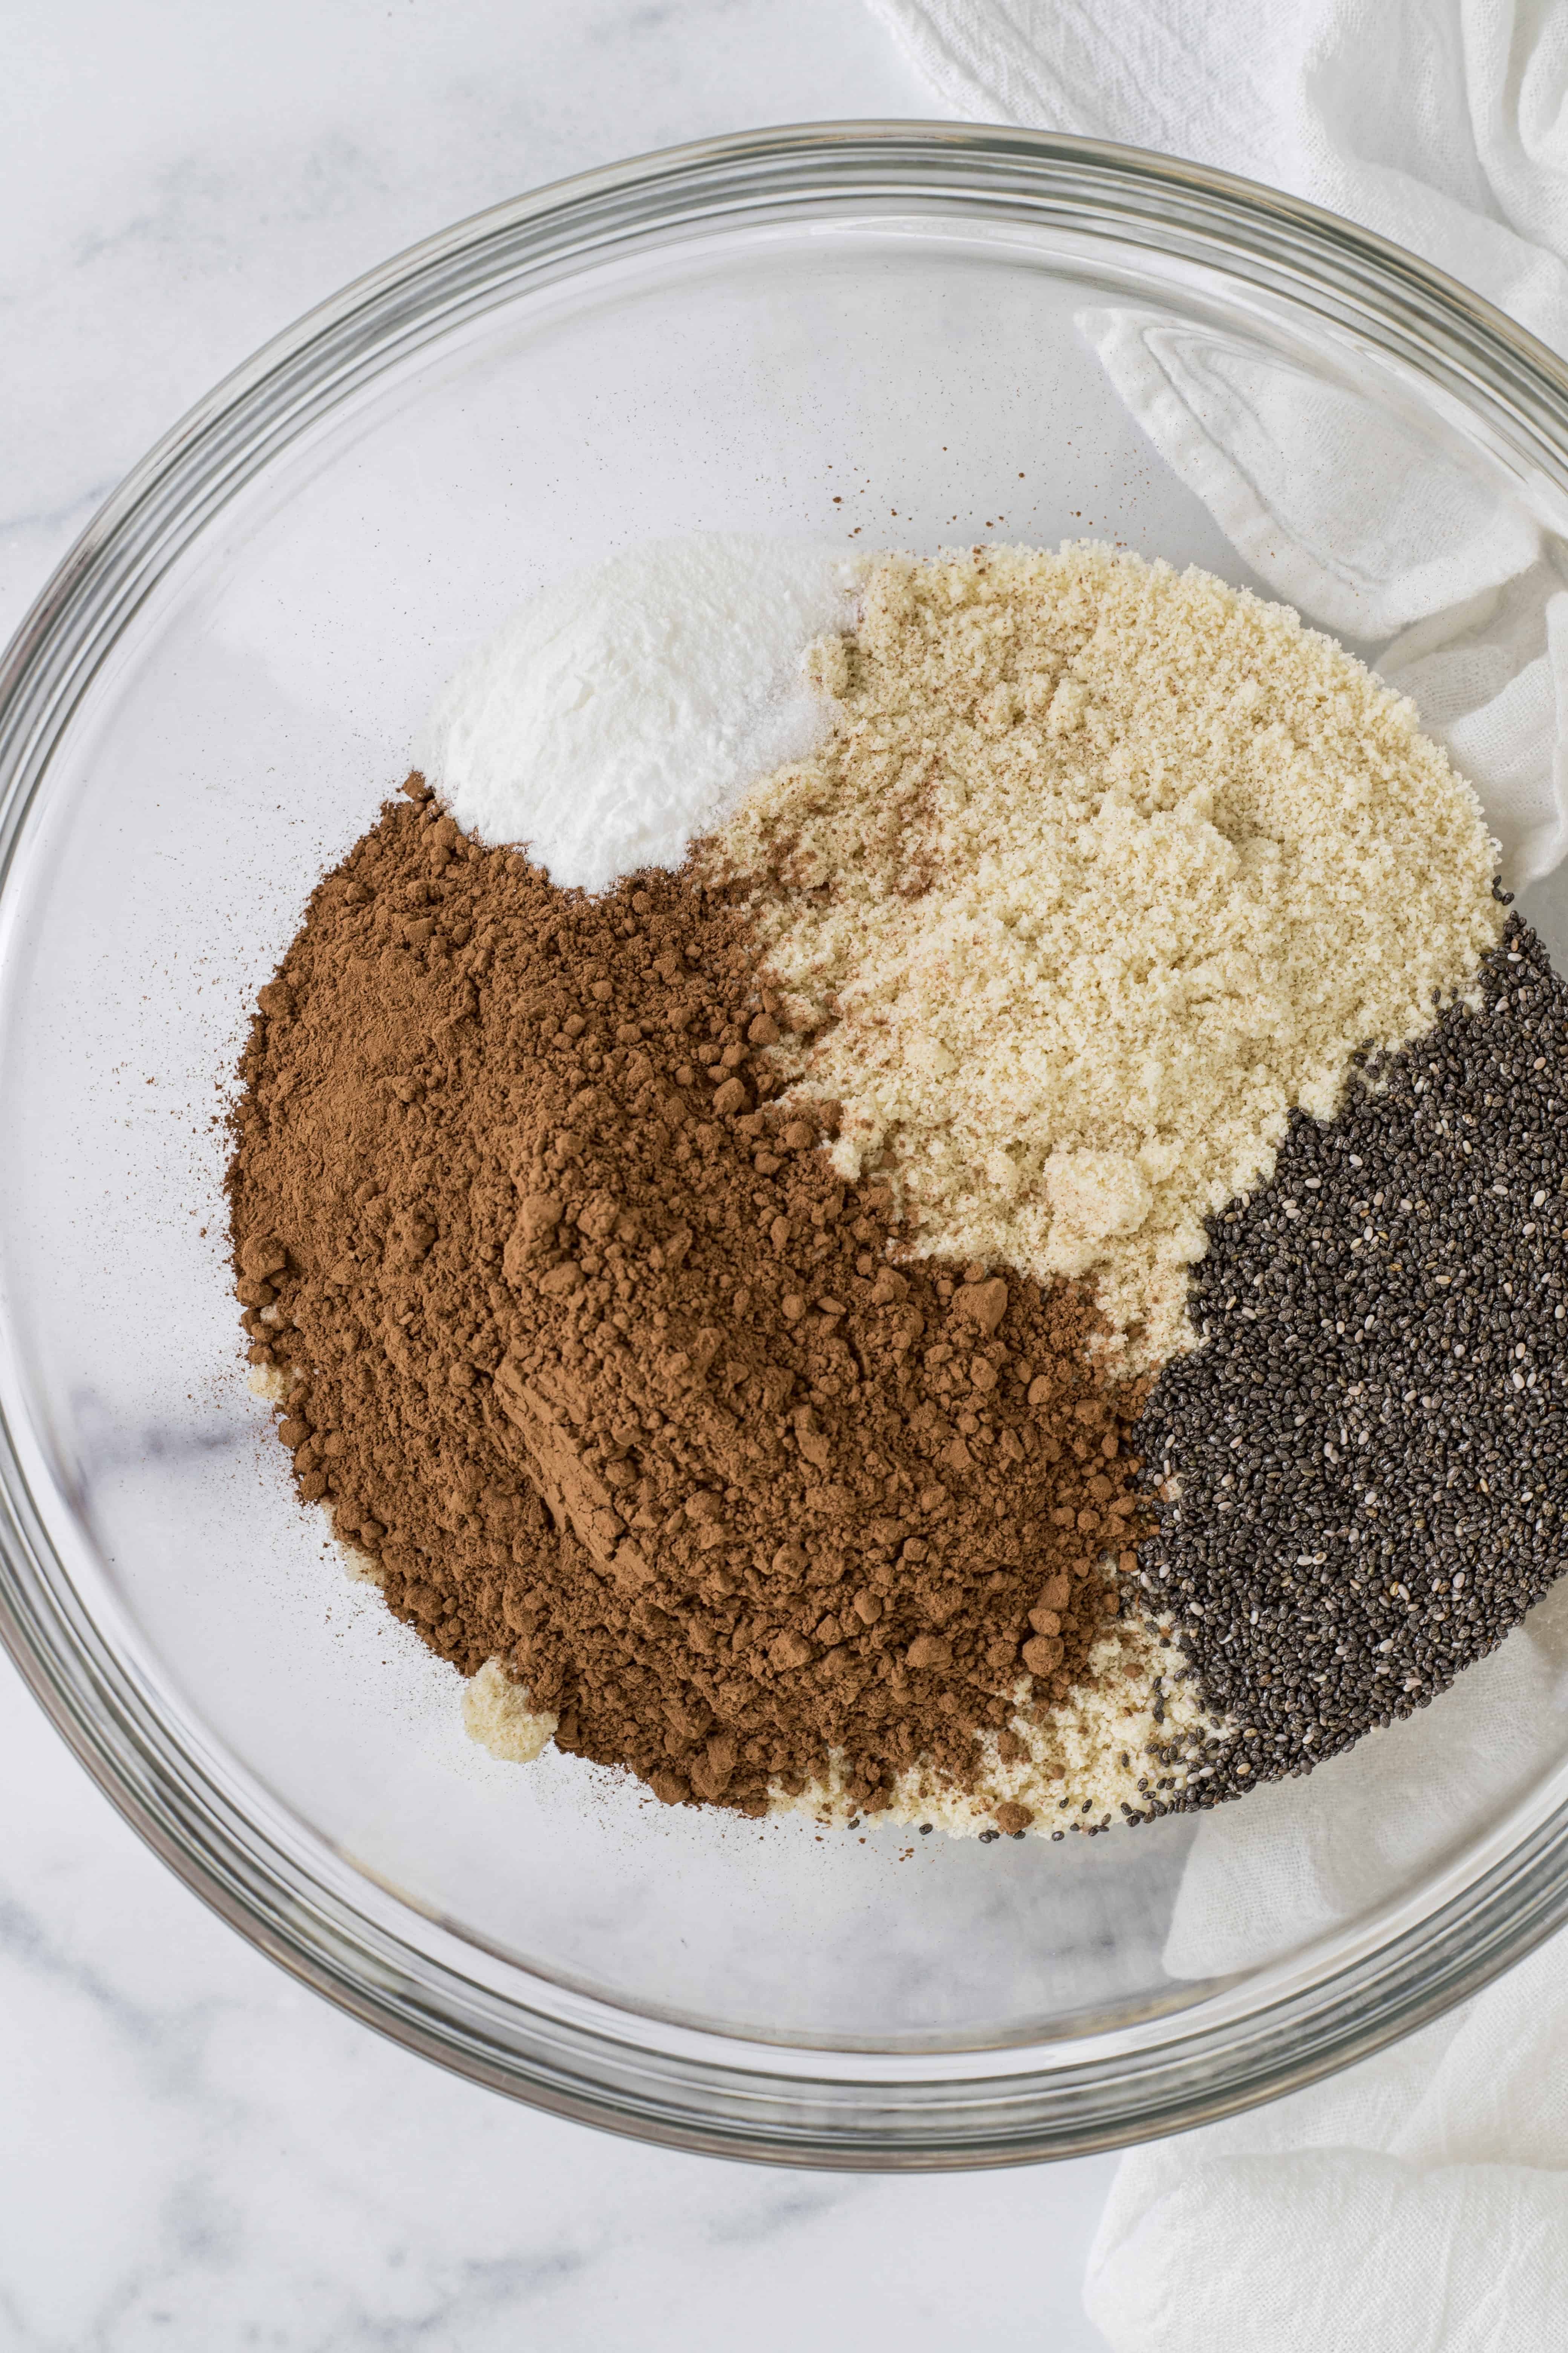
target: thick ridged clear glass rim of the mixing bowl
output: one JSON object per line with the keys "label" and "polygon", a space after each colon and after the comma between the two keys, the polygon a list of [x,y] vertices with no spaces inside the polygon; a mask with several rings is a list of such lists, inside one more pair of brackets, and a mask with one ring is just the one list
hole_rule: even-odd
{"label": "thick ridged clear glass rim of the mixing bowl", "polygon": [[[219,384],[82,532],[0,661],[0,904],[71,715],[120,631],[235,492],[421,344],[527,285],[748,221],[1016,219],[1119,238],[1314,313],[1458,400],[1568,501],[1568,369],[1441,271],[1295,198],[1091,139],[820,122],[708,139],[496,205],[310,311]],[[1568,506],[1566,506],[1568,511]],[[75,1598],[0,1421],[0,1638],[120,1814],[254,1946],[477,2082],[668,2146],[762,2162],[1006,2165],[1178,2132],[1410,2033],[1568,1918],[1568,1807],[1462,1897],[1244,2019],[1182,2012],[1114,2045],[964,2054],[762,2047],[663,2028],[529,1979],[510,2000],[456,1937],[418,1951],[303,1842],[252,1821]],[[522,1974],[522,1972],[520,1972]]]}

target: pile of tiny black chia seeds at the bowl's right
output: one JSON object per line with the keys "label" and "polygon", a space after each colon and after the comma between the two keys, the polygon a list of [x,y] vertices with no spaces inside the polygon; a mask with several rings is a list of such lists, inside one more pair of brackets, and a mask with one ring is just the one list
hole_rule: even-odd
{"label": "pile of tiny black chia seeds at the bowl's right", "polygon": [[1410,1715],[1568,1567],[1568,986],[1512,915],[1479,988],[1295,1115],[1192,1268],[1140,1577],[1237,1729],[1173,1807]]}

